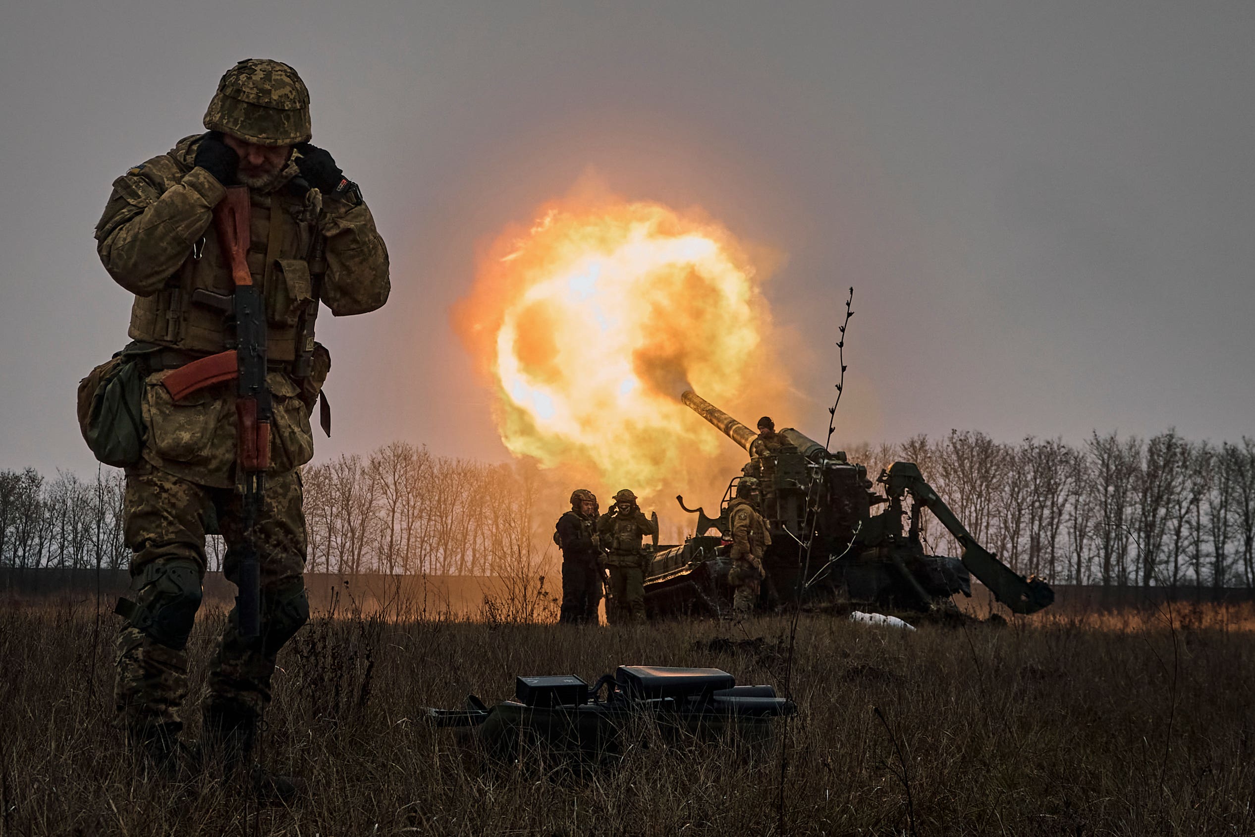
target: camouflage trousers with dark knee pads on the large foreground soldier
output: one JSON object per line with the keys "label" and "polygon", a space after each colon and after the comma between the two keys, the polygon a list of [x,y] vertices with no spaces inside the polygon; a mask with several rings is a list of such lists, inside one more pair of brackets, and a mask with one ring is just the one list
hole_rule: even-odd
{"label": "camouflage trousers with dark knee pads on the large foreground soldier", "polygon": [[[118,631],[114,703],[119,722],[141,735],[177,730],[187,698],[187,651],[205,578],[205,536],[217,521],[226,542],[223,571],[236,580],[242,496],[211,488],[148,463],[127,469],[124,533],[134,612]],[[309,619],[305,595],[305,514],[295,472],[267,477],[255,527],[261,565],[261,636],[246,640],[232,609],[210,665],[206,710],[259,717],[270,703],[279,649]]]}

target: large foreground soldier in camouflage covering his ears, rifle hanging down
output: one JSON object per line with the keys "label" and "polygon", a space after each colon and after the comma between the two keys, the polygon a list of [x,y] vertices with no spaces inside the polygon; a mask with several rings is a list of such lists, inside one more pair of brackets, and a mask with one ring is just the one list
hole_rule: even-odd
{"label": "large foreground soldier in camouflage covering his ears, rifle hanging down", "polygon": [[[389,294],[370,210],[310,144],[296,70],[240,61],[205,127],[113,183],[95,238],[105,270],[136,295],[133,343],[79,393],[84,437],[127,468],[132,594],[118,609],[117,712],[167,773],[183,753],[184,646],[212,521],[240,599],[211,663],[203,743],[231,769],[250,763],[275,656],[309,619],[296,468],[314,453],[310,415],[331,364],[314,341],[318,306],[365,314]],[[132,381],[128,397],[118,381]],[[127,409],[110,407],[119,402]],[[128,412],[142,425],[119,418]],[[325,402],[321,413],[329,429]],[[259,784],[291,792],[259,772]]]}

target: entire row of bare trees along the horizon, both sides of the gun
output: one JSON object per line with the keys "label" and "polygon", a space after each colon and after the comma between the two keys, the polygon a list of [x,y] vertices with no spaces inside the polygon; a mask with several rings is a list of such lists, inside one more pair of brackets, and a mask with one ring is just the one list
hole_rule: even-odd
{"label": "entire row of bare trees along the horizon, both sides of the gun", "polygon": [[[1059,584],[1255,586],[1255,440],[1212,444],[1175,432],[1092,434],[1081,445],[979,432],[855,445],[875,479],[915,462],[973,536],[1018,572]],[[535,575],[566,494],[533,468],[435,456],[395,442],[306,467],[311,571]],[[0,566],[117,568],[120,472],[94,478],[0,471]],[[958,555],[929,520],[931,551]],[[221,538],[210,540],[220,568]]]}

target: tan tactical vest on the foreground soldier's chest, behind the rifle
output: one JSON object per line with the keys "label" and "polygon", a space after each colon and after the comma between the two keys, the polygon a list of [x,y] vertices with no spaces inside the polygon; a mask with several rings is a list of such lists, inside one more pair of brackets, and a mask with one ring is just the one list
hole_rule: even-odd
{"label": "tan tactical vest on the foreground soldier's chest, behind the rifle", "polygon": [[[290,361],[297,354],[297,323],[312,299],[310,267],[312,232],[304,221],[305,202],[286,193],[251,193],[251,238],[248,272],[261,287],[266,305],[266,354],[270,360]],[[225,297],[230,310],[231,269],[218,247],[213,225],[188,253],[166,287],[152,296],[137,296],[131,307],[133,340],[156,343],[195,354],[215,354],[227,348],[226,311],[192,301],[203,289]],[[307,329],[312,348],[314,329]]]}

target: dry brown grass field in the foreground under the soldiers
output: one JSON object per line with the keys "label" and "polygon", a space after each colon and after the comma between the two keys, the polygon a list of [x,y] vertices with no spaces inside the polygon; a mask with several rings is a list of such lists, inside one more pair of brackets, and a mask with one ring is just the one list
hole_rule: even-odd
{"label": "dry brown grass field in the foreground under the soldiers", "polygon": [[[915,632],[803,615],[801,712],[774,742],[646,734],[591,772],[543,753],[484,765],[427,728],[422,706],[510,696],[516,674],[591,681],[619,664],[719,666],[783,689],[788,620],[576,629],[508,612],[315,617],[280,656],[264,737],[265,759],[311,794],[259,808],[211,776],[144,778],[123,753],[115,616],[9,602],[0,834],[1255,834],[1249,610]],[[193,695],[222,621],[207,610],[197,624]]]}

